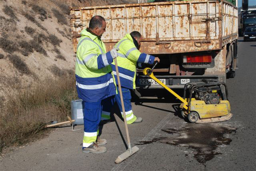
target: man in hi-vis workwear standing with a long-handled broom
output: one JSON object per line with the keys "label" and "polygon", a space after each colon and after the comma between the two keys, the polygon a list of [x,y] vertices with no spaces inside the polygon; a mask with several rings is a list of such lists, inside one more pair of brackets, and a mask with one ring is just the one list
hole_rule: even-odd
{"label": "man in hi-vis workwear standing with a long-handled broom", "polygon": [[118,48],[106,52],[101,41],[106,31],[106,22],[102,16],[94,16],[89,28],[82,30],[76,52],[76,89],[82,99],[84,114],[84,153],[104,153],[106,139],[99,139],[98,125],[101,120],[102,106],[116,95],[116,85],[110,64],[118,56]]}

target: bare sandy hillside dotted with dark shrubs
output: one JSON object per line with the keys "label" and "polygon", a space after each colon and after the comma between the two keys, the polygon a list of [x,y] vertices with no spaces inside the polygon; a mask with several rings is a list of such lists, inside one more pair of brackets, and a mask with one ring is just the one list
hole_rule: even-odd
{"label": "bare sandy hillside dotted with dark shrubs", "polygon": [[0,102],[7,89],[74,74],[69,6],[128,0],[0,0]]}

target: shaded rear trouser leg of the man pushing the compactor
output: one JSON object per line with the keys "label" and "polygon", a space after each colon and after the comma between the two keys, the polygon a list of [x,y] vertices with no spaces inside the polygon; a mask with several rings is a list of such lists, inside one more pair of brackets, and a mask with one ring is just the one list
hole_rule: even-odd
{"label": "shaded rear trouser leg of the man pushing the compactor", "polygon": [[116,102],[114,95],[102,100],[101,120],[110,119],[110,111]]}

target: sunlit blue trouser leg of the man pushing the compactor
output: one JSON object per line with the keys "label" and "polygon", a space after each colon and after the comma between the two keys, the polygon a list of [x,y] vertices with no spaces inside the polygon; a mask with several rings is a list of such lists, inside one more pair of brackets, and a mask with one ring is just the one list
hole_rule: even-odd
{"label": "sunlit blue trouser leg of the man pushing the compactor", "polygon": [[[124,109],[125,109],[125,114],[126,114],[126,121],[127,121],[127,124],[131,124],[137,119],[137,117],[133,114],[133,111],[132,111],[131,92],[130,92],[130,89],[127,89],[127,88],[124,88],[124,87],[121,87],[121,89],[122,89],[122,95],[123,95],[123,100],[124,100]],[[116,99],[116,102],[117,102],[118,107],[120,109],[120,112],[122,114],[122,117],[124,117],[118,87],[117,87],[117,90],[118,90],[118,94],[115,95],[115,99]]]}

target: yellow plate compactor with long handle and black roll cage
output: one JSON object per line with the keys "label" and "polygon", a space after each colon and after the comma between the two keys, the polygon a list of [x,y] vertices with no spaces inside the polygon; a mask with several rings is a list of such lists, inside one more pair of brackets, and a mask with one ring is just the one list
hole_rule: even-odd
{"label": "yellow plate compactor with long handle and black roll cage", "polygon": [[143,74],[155,80],[182,101],[181,114],[183,117],[187,117],[191,123],[221,122],[232,117],[225,83],[213,80],[187,83],[184,85],[184,97],[182,98],[154,76],[152,70],[157,64],[158,62],[152,69],[145,68]]}

